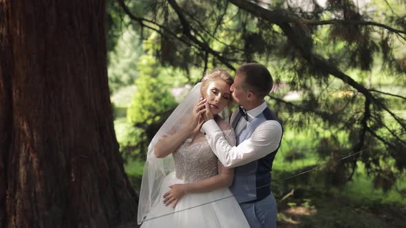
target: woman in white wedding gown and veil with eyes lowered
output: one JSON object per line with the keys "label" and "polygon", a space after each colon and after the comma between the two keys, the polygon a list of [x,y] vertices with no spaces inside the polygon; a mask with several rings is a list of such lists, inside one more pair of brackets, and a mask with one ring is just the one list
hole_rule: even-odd
{"label": "woman in white wedding gown and veil with eyes lowered", "polygon": [[233,78],[213,69],[180,102],[153,137],[138,203],[138,224],[147,227],[249,227],[228,186],[234,170],[222,166],[200,128],[209,104],[227,141],[233,128],[220,117],[231,104]]}

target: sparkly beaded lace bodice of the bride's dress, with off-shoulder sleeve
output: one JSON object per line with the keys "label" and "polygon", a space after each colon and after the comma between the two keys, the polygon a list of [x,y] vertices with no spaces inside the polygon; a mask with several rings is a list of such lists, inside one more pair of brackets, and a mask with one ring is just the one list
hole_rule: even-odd
{"label": "sparkly beaded lace bodice of the bride's dress, with off-shoulder sleeve", "polygon": [[[234,130],[224,130],[224,137],[231,146],[235,146]],[[218,159],[204,140],[181,144],[173,153],[175,171],[178,179],[188,182],[200,181],[218,174]]]}

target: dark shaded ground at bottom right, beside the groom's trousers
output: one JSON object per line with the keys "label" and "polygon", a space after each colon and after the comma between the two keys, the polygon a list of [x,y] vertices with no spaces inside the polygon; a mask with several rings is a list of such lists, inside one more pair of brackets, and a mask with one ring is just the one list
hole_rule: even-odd
{"label": "dark shaded ground at bottom right, beside the groom's trousers", "polygon": [[405,227],[406,208],[383,203],[354,203],[342,195],[312,192],[297,205],[279,203],[278,227]]}

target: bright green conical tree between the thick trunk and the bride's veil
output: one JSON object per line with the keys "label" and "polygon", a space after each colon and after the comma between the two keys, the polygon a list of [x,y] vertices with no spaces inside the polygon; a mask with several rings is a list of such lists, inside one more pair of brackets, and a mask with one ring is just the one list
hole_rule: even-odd
{"label": "bright green conical tree between the thick trunk and the bride's veil", "polygon": [[[155,35],[151,34],[149,40],[153,41]],[[146,42],[144,46],[147,51],[140,56],[137,64],[140,76],[135,83],[136,93],[127,109],[127,122],[132,129],[126,137],[129,140],[122,145],[125,157],[131,156],[131,153],[145,157],[149,141],[176,105],[168,84],[160,80],[162,78],[160,63],[151,56],[151,52],[154,51],[153,42]]]}

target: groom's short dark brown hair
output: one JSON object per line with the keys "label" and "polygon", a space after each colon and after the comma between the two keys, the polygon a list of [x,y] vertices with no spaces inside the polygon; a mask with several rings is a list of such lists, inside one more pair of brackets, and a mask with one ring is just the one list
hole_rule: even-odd
{"label": "groom's short dark brown hair", "polygon": [[244,77],[243,88],[265,98],[273,87],[273,78],[268,69],[257,62],[246,63],[237,68],[235,76]]}

